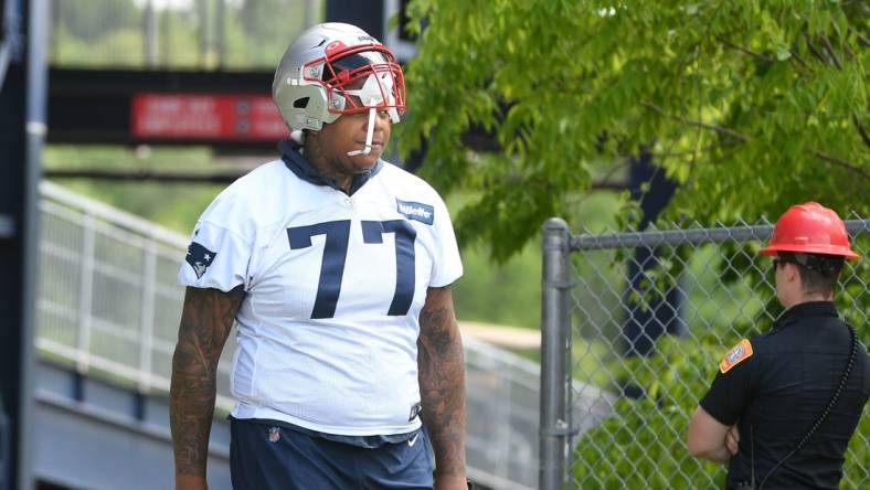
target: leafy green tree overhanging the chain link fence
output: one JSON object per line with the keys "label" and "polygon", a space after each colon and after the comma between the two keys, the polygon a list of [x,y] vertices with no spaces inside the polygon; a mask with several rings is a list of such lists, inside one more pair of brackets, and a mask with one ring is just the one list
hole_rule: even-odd
{"label": "leafy green tree overhanging the chain link fence", "polygon": [[410,19],[400,149],[426,140],[436,187],[482,189],[456,225],[496,259],[549,216],[576,228],[571,196],[641,148],[680,184],[668,220],[870,212],[866,2],[415,0]]}

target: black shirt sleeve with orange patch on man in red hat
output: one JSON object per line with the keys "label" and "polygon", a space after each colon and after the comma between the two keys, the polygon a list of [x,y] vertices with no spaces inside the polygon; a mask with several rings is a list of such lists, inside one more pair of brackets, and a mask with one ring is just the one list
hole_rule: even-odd
{"label": "black shirt sleeve with orange patch on man in red hat", "polygon": [[[744,342],[749,344],[749,341]],[[749,355],[744,354],[744,359],[733,362],[733,352],[739,348],[740,345],[725,354],[710,390],[700,403],[701,407],[722,425],[734,425],[752,395],[752,372],[757,356],[752,356],[750,352]]]}

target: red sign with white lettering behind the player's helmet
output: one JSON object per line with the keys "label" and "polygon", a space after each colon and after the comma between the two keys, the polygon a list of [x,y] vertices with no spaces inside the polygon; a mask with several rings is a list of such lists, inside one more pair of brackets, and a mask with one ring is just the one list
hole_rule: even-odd
{"label": "red sign with white lettering behind the player's helmet", "polygon": [[266,95],[136,94],[132,136],[141,139],[278,141],[289,136]]}

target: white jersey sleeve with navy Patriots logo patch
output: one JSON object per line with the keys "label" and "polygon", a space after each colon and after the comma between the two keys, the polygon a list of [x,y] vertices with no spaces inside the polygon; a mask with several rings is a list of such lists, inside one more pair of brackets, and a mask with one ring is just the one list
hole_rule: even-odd
{"label": "white jersey sleeve with navy Patriots logo patch", "polygon": [[[236,223],[244,212],[219,196],[197,222],[188,253],[178,273],[182,286],[227,292],[246,284],[253,251],[253,226]],[[247,230],[247,233],[236,230]]]}

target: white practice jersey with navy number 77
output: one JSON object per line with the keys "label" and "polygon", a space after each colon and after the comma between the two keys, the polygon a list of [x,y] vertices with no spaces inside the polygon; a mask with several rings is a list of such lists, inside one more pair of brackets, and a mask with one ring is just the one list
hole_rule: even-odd
{"label": "white practice jersey with navy number 77", "polygon": [[402,434],[417,417],[418,316],[463,271],[450,216],[390,163],[352,195],[266,163],[226,188],[193,232],[182,285],[243,285],[236,418],[328,434]]}

